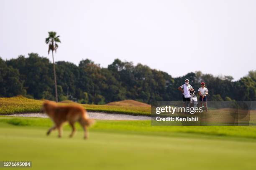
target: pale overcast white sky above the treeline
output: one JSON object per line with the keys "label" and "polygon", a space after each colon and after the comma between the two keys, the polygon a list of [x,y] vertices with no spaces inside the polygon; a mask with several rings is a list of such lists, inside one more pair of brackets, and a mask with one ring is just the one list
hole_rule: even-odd
{"label": "pale overcast white sky above the treeline", "polygon": [[0,0],[0,57],[48,57],[45,38],[56,31],[57,61],[119,58],[173,77],[238,80],[256,69],[255,9],[256,0]]}

